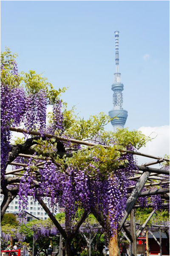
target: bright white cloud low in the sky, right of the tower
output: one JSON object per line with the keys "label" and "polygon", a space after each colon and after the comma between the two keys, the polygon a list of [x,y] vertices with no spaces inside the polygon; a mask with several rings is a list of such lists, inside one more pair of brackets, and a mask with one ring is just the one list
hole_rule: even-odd
{"label": "bright white cloud low in the sky, right of the tower", "polygon": [[[170,152],[170,126],[156,126],[156,127],[140,127],[138,131],[142,131],[143,134],[154,138],[153,140],[147,142],[146,147],[139,149],[139,152],[150,154],[157,157],[164,157],[164,154],[169,154]],[[138,163],[146,163],[154,161],[151,158],[138,157]],[[158,167],[154,165],[153,167]]]}

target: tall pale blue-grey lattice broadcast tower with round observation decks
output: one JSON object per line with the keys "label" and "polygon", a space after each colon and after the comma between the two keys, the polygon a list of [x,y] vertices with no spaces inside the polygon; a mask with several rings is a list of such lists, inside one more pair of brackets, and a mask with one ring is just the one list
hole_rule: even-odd
{"label": "tall pale blue-grey lattice broadcast tower with round observation decks", "polygon": [[116,73],[114,73],[114,83],[111,89],[113,90],[113,109],[109,111],[111,118],[117,117],[111,120],[113,130],[116,132],[117,128],[123,128],[127,119],[127,111],[122,108],[123,103],[123,84],[121,83],[121,73],[119,73],[119,31],[115,31],[116,39]]}

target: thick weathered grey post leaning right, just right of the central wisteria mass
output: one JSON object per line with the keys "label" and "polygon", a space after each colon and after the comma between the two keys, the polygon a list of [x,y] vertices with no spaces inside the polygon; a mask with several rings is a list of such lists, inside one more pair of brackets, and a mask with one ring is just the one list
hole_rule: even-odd
{"label": "thick weathered grey post leaning right, just right of the central wisteria mass", "polygon": [[119,223],[119,230],[121,230],[121,228],[123,227],[123,224],[125,224],[125,221],[131,211],[131,209],[133,209],[133,206],[140,194],[140,192],[142,191],[144,184],[147,181],[147,178],[149,177],[150,172],[144,172],[141,177],[139,178],[139,180],[136,183],[135,188],[133,189],[130,197],[127,199],[127,203],[126,203],[126,209],[125,209],[125,213],[124,216],[122,218],[122,221]]}

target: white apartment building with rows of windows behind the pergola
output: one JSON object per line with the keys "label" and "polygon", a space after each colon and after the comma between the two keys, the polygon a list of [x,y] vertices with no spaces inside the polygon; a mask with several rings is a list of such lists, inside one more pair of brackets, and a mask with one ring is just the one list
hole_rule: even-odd
{"label": "white apartment building with rows of windows behind the pergola", "polygon": [[[0,195],[0,204],[2,204],[3,201],[3,195]],[[56,214],[59,212],[59,210],[51,209],[48,204],[48,199],[44,199],[45,204],[47,207],[53,212],[53,214]],[[28,209],[26,209],[27,212],[29,212],[31,215],[34,215],[37,218],[40,218],[42,220],[45,220],[48,218],[47,213],[44,211],[44,209],[41,207],[40,203],[38,201],[34,202],[34,199],[31,197],[28,197]],[[9,204],[6,213],[12,213],[12,212],[19,212],[19,204],[18,204],[18,195],[14,198],[14,200]]]}

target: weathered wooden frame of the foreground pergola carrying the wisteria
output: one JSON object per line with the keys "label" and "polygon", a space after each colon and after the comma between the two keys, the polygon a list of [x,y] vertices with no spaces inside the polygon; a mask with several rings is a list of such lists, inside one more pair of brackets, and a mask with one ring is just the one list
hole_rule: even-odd
{"label": "weathered wooden frame of the foreground pergola carrying the wisteria", "polygon": [[[5,180],[1,189],[1,193],[4,195],[3,203],[1,205],[1,216],[4,215],[8,205],[11,203],[11,201],[15,198],[18,192],[18,186],[21,180],[21,172],[26,169],[27,164],[24,163],[17,163],[14,160],[16,157],[25,157],[25,158],[34,158],[34,148],[32,147],[35,143],[33,140],[36,138],[39,138],[41,134],[37,131],[26,131],[21,128],[10,128],[10,131],[15,131],[19,133],[27,133],[30,135],[33,135],[35,137],[32,137],[26,141],[23,145],[11,145],[11,152],[8,157],[7,165],[13,165],[13,166],[19,166],[20,168],[15,169],[13,171],[6,172]],[[68,139],[65,137],[53,135],[53,134],[46,134],[43,135],[44,138],[52,138],[55,137],[57,142],[60,141],[69,141],[74,144],[81,144],[86,146],[98,146],[98,144],[90,143],[87,141],[81,141],[81,140],[74,140],[74,139]],[[107,148],[107,146],[103,145],[104,148]],[[60,148],[61,149],[61,148]],[[140,235],[142,232],[141,229],[137,230],[136,233],[136,225],[135,225],[135,218],[134,218],[134,207],[139,207],[139,205],[136,204],[136,200],[139,197],[145,197],[150,195],[161,195],[161,198],[164,200],[169,200],[170,197],[170,189],[169,186],[166,188],[161,188],[161,185],[168,184],[169,183],[169,170],[165,169],[158,169],[153,168],[150,166],[153,166],[158,163],[163,162],[169,162],[169,159],[163,158],[163,157],[156,157],[150,154],[142,154],[137,151],[128,151],[123,149],[118,149],[121,154],[134,154],[134,155],[140,155],[143,157],[151,158],[152,161],[144,163],[142,165],[136,165],[135,170],[135,176],[130,177],[129,180],[136,180],[135,186],[130,186],[129,188],[132,189],[131,194],[128,195],[128,199],[126,202],[126,208],[125,212],[123,213],[122,220],[119,222],[119,230],[120,232],[122,229],[125,231],[125,235],[128,239],[130,239],[132,243],[132,256],[137,256],[136,254],[136,238]],[[60,157],[72,157],[72,153],[66,153],[62,150],[58,150],[58,152],[55,152],[55,154],[58,154]],[[42,157],[42,162],[37,164],[38,169],[43,169],[43,165],[48,161],[51,160],[50,157],[48,157],[48,154],[45,157]],[[154,161],[153,161],[154,160]],[[125,168],[124,166],[120,166],[120,168]],[[38,174],[38,172],[37,172]],[[14,175],[14,177],[9,177],[8,175]],[[18,176],[20,175],[20,176]],[[156,180],[156,181],[155,181]],[[12,188],[8,188],[8,185],[14,185]],[[39,183],[34,180],[34,186],[39,186]],[[149,189],[144,192],[142,192],[142,189],[147,186],[156,186],[155,189]],[[159,186],[159,188],[158,188]],[[45,212],[48,214],[49,218],[51,218],[51,221],[53,221],[54,225],[59,230],[60,234],[65,238],[65,232],[63,232],[62,227],[59,225],[55,217],[52,215],[48,207],[45,205],[45,203],[42,201],[42,198],[40,199],[39,203],[41,204],[42,208],[45,210]],[[167,203],[164,202],[164,207],[167,207]],[[103,219],[102,213],[99,211],[99,209],[95,207],[91,207],[91,213],[96,217],[96,219],[99,221],[99,224],[104,230],[107,230],[108,227],[105,223],[105,220]],[[152,212],[153,215],[154,211]],[[127,229],[127,217],[130,214],[130,231]],[[82,215],[82,218],[78,221],[76,226],[74,227],[74,231],[77,232],[79,230],[79,227],[82,225],[82,223],[85,221],[85,218],[87,218],[88,213],[84,212]],[[151,216],[151,215],[150,215]],[[151,216],[152,217],[152,216]],[[150,217],[150,218],[151,218]],[[148,222],[148,221],[147,221]],[[146,226],[146,224],[144,224]],[[144,226],[144,227],[145,227]],[[143,228],[143,227],[142,227]],[[144,229],[144,228],[143,228]],[[111,238],[110,247],[109,247],[109,255],[110,256],[118,256],[119,255],[119,249],[118,249],[118,235]]]}

